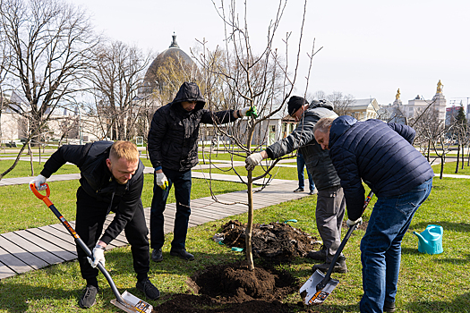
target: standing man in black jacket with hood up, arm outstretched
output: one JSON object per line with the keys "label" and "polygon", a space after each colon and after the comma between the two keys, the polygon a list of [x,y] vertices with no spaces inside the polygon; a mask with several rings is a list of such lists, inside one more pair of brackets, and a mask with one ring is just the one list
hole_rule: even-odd
{"label": "standing man in black jacket with hood up, arm outstretched", "polygon": [[199,162],[198,136],[201,123],[230,123],[243,116],[256,117],[256,109],[210,112],[198,85],[184,82],[173,102],[160,107],[153,115],[149,132],[150,161],[155,168],[155,182],[150,211],[151,258],[163,260],[165,242],[163,212],[169,190],[175,185],[176,216],[170,255],[193,260],[185,241],[191,215],[191,169]]}

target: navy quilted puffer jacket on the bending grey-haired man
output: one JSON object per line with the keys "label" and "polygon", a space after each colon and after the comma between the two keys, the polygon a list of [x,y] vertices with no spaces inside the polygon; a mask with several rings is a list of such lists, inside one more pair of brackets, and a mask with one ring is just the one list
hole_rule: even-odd
{"label": "navy quilted puffer jacket on the bending grey-haired man", "polygon": [[338,117],[329,131],[329,156],[345,190],[349,219],[363,213],[365,182],[377,197],[397,197],[434,176],[413,147],[413,128],[380,120]]}

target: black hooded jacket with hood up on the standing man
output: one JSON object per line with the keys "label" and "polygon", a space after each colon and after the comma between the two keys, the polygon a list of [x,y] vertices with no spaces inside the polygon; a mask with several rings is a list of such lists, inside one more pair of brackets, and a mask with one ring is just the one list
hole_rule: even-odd
{"label": "black hooded jacket with hood up on the standing man", "polygon": [[[191,112],[183,101],[197,101]],[[154,168],[184,172],[199,163],[198,136],[201,123],[230,123],[234,110],[210,112],[195,83],[184,82],[173,102],[162,106],[153,115],[149,131],[150,162]]]}

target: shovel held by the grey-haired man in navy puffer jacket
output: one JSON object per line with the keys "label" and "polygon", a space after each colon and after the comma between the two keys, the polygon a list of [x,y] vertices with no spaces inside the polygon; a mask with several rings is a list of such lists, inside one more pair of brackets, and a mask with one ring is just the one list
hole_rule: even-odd
{"label": "shovel held by the grey-haired man in navy puffer jacket", "polygon": [[[367,195],[367,198],[365,199],[363,211],[365,211],[365,208],[367,207],[367,205],[369,205],[369,202],[371,202],[372,196],[373,196],[373,192],[371,191],[369,192],[369,195]],[[349,240],[349,237],[351,237],[351,233],[353,233],[356,228],[357,228],[357,224],[354,224],[351,227],[349,227],[349,230],[347,231],[345,238],[343,238],[343,241],[341,241],[338,251],[333,257],[333,260],[331,261],[331,265],[329,266],[327,275],[324,275],[323,273],[320,272],[320,270],[317,269],[315,273],[313,273],[313,275],[310,276],[308,281],[303,283],[303,286],[299,292],[300,292],[302,299],[305,301],[305,304],[323,303],[323,301],[327,299],[329,294],[333,292],[333,290],[336,288],[339,281],[336,279],[330,278],[330,276],[331,276],[331,273],[333,272],[333,268],[335,267],[335,264],[337,263],[339,256],[341,255],[341,252],[346,246],[346,242]]]}

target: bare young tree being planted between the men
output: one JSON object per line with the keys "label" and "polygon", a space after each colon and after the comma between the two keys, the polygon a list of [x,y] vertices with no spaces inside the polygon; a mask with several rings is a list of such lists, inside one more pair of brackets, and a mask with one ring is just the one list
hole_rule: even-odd
{"label": "bare young tree being planted between the men", "polygon": [[[295,63],[288,63],[291,33],[287,33],[283,39],[285,51],[280,53],[274,47],[274,38],[278,32],[279,22],[286,8],[286,0],[280,1],[276,17],[270,22],[267,34],[266,46],[260,53],[252,49],[250,31],[246,20],[247,4],[244,2],[241,10],[236,7],[236,1],[220,1],[214,3],[218,15],[224,22],[226,31],[225,44],[223,49],[225,57],[222,60],[215,60],[218,51],[210,52],[204,49],[198,57],[204,73],[204,81],[207,88],[204,91],[208,100],[209,108],[216,106],[213,98],[213,81],[222,80],[224,106],[232,109],[239,109],[244,106],[256,108],[259,118],[250,117],[244,120],[237,120],[226,129],[218,128],[218,131],[225,136],[230,144],[225,145],[227,152],[232,155],[249,156],[253,152],[266,145],[268,138],[268,122],[270,117],[285,109],[286,100],[291,96],[295,82],[297,80],[297,70],[302,45],[303,21],[305,19],[306,2],[303,9],[303,18],[299,19],[300,38],[295,42],[296,58]],[[240,13],[241,12],[241,13]],[[201,42],[204,43],[203,41]],[[308,55],[312,62],[315,55],[314,47],[312,54]],[[220,63],[222,62],[222,63]],[[304,96],[305,94],[303,94]],[[216,125],[216,127],[218,127]],[[261,129],[261,130],[260,130]],[[258,130],[258,131],[257,131]],[[252,203],[252,183],[264,179],[269,175],[278,160],[265,161],[260,175],[254,177],[252,170],[247,172],[246,179],[234,168],[240,180],[248,186],[248,201],[244,203],[248,207],[248,224],[245,232],[246,238],[246,259],[251,270],[254,269],[252,260],[252,224],[253,224],[253,203]],[[233,164],[232,164],[233,166]],[[213,196],[214,199],[217,199]]]}

